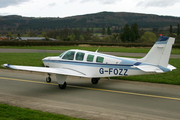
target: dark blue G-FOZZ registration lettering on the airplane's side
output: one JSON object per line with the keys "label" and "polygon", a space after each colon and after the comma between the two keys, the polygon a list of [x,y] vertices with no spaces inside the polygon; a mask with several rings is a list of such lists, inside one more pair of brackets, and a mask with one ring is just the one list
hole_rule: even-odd
{"label": "dark blue G-FOZZ registration lettering on the airplane's side", "polygon": [[99,69],[99,73],[100,74],[105,74],[108,73],[109,75],[124,75],[127,76],[128,69],[118,69],[118,68],[109,68],[109,69],[104,69],[104,68],[100,68]]}

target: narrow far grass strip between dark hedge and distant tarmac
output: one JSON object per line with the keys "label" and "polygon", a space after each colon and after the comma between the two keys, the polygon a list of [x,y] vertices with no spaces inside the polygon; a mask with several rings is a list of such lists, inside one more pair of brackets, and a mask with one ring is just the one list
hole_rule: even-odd
{"label": "narrow far grass strip between dark hedge and distant tarmac", "polygon": [[[14,48],[14,49],[43,49],[43,50],[69,50],[69,49],[80,49],[96,51],[98,47],[89,46],[24,46],[24,47],[1,47],[1,48]],[[150,48],[125,48],[125,47],[100,47],[100,52],[128,52],[128,53],[147,53]],[[172,49],[172,54],[180,54],[180,49]]]}

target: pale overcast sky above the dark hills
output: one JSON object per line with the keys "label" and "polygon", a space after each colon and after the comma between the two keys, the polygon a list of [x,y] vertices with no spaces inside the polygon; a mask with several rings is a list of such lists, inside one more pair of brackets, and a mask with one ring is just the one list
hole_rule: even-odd
{"label": "pale overcast sky above the dark hills", "polygon": [[180,17],[180,0],[0,0],[0,15],[62,18],[102,11]]}

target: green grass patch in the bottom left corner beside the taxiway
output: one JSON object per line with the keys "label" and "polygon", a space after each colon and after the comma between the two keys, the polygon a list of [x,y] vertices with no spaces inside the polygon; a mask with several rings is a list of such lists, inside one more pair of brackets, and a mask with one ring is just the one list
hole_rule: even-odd
{"label": "green grass patch in the bottom left corner beside the taxiway", "polygon": [[59,114],[0,104],[0,120],[82,120]]}

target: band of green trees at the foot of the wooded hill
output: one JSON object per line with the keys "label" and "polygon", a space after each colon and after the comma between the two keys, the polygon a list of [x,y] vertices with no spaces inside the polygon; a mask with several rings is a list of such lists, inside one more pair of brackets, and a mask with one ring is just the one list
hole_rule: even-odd
{"label": "band of green trees at the foot of the wooded hill", "polygon": [[[99,32],[98,34],[95,31]],[[158,28],[154,28],[153,31],[144,31],[139,29],[138,24],[134,23],[131,26],[126,24],[123,28],[110,27],[107,28],[64,28],[61,30],[42,31],[37,34],[34,31],[28,31],[26,34],[7,34],[11,39],[17,37],[45,37],[58,39],[60,41],[88,41],[88,42],[116,42],[116,43],[153,43],[155,42],[160,33],[164,31],[158,31]],[[164,36],[176,37],[176,43],[180,43],[180,28],[179,24],[176,29],[173,29],[170,25],[169,32],[164,32]]]}

